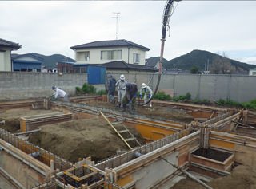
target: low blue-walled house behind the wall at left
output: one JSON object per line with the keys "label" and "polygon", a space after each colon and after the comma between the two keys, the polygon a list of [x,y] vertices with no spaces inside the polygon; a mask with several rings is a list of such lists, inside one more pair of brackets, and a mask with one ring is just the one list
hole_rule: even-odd
{"label": "low blue-walled house behind the wall at left", "polygon": [[41,57],[37,57],[32,53],[14,55],[11,57],[13,71],[18,72],[42,72]]}

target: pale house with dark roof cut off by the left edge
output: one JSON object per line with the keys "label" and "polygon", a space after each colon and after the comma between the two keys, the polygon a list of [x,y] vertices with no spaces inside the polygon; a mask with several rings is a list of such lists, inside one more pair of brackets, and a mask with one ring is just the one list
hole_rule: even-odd
{"label": "pale house with dark roof cut off by the left edge", "polygon": [[0,38],[0,71],[12,71],[10,54],[12,50],[22,48],[18,43],[7,41]]}

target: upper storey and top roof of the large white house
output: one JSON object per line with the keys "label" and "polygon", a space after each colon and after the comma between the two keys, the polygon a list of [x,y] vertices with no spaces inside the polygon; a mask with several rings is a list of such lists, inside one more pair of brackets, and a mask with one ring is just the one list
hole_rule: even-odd
{"label": "upper storey and top roof of the large white house", "polygon": [[70,47],[78,64],[104,64],[125,61],[128,64],[145,65],[145,54],[150,49],[125,39],[94,41]]}

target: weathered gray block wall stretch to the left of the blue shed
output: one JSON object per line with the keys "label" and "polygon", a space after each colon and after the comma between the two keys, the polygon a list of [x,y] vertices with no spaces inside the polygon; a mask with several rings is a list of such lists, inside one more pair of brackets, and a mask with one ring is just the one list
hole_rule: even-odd
{"label": "weathered gray block wall stretch to the left of the blue shed", "polygon": [[[46,97],[52,86],[61,87],[73,95],[75,87],[87,83],[86,73],[19,73],[0,72],[0,100]],[[104,86],[104,85],[103,85]]]}

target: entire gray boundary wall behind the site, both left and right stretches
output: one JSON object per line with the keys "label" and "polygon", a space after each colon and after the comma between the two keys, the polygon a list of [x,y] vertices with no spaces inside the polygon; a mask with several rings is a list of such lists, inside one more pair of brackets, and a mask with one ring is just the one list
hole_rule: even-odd
{"label": "entire gray boundary wall behind the site, both left and right stretches", "polygon": [[[119,79],[121,73],[112,73]],[[135,82],[138,89],[146,83],[154,89],[158,74],[126,73],[126,81]],[[107,81],[107,80],[106,80]],[[87,83],[86,73],[18,73],[0,72],[0,100],[28,99],[50,96],[51,87],[62,87],[74,95],[75,87]],[[174,96],[190,93],[192,99],[234,100],[249,102],[256,99],[256,77],[240,75],[195,75],[162,74],[159,89],[172,90]],[[97,90],[105,90],[105,85],[94,85]]]}

